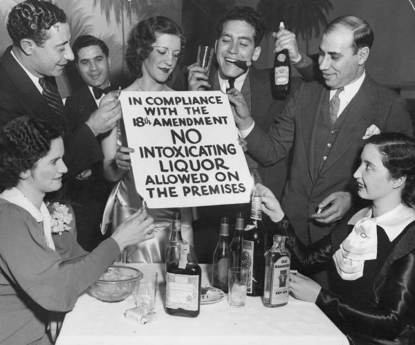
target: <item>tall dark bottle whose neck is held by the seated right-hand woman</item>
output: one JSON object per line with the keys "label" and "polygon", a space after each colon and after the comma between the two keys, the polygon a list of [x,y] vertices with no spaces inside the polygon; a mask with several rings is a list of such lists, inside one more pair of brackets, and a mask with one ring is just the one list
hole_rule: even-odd
{"label": "tall dark bottle whose neck is held by the seated right-hand woman", "polygon": [[248,296],[262,296],[264,293],[266,231],[261,221],[261,195],[255,190],[252,196],[250,221],[243,230],[242,263],[248,269]]}

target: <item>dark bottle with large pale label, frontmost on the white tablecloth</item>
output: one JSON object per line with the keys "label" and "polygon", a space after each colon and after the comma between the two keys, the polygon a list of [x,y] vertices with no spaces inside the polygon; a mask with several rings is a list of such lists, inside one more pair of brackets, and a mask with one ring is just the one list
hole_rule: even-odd
{"label": "dark bottle with large pale label, frontmost on the white tablecloth", "polygon": [[201,310],[202,271],[190,261],[189,243],[181,244],[178,261],[167,265],[166,313],[175,316],[196,317]]}

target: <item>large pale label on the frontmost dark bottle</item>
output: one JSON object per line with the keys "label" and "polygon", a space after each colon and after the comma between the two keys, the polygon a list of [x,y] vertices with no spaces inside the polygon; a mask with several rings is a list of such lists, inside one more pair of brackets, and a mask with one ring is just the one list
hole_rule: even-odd
{"label": "large pale label on the frontmost dark bottle", "polygon": [[198,310],[199,276],[167,272],[166,307]]}

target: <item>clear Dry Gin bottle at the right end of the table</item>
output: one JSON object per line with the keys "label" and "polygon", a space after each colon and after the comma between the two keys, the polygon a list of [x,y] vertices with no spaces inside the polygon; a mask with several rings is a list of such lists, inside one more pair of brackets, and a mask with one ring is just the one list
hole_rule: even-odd
{"label": "clear Dry Gin bottle at the right end of the table", "polygon": [[285,248],[286,236],[274,235],[273,247],[266,253],[264,299],[266,307],[285,306],[288,303],[291,254]]}

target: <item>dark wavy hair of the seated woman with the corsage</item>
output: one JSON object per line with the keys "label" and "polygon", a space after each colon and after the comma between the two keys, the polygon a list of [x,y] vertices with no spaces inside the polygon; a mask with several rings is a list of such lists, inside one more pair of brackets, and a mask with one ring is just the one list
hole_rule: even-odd
{"label": "dark wavy hair of the seated woman with the corsage", "polygon": [[45,121],[21,116],[0,129],[0,192],[16,187],[20,174],[33,169],[62,133]]}

